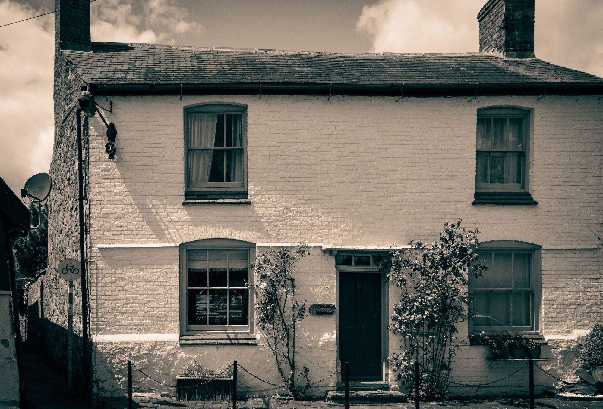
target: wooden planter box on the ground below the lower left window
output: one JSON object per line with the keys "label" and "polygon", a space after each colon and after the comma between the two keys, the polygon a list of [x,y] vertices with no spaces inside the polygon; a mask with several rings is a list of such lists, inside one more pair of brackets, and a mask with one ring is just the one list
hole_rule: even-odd
{"label": "wooden planter box on the ground below the lower left window", "polygon": [[232,382],[232,377],[191,378],[176,375],[176,400],[204,402],[232,401]]}

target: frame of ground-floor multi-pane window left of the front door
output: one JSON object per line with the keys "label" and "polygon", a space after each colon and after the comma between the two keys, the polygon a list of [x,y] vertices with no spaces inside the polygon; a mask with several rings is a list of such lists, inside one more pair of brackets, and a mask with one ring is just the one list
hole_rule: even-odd
{"label": "frame of ground-floor multi-pane window left of the front door", "polygon": [[[188,324],[188,250],[248,250],[248,262],[253,263],[256,258],[256,246],[253,243],[235,239],[203,239],[180,245],[180,334],[237,334],[249,335],[255,331],[254,322],[254,289],[256,285],[255,274],[250,267],[248,272],[248,321],[247,325],[189,325]],[[209,284],[209,283],[207,283]],[[229,289],[221,287],[219,289]]]}

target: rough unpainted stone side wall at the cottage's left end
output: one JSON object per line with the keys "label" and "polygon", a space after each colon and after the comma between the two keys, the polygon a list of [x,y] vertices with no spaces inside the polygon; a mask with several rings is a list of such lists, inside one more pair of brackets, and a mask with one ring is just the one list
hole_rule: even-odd
{"label": "rough unpainted stone side wall at the cottage's left end", "polygon": [[[48,198],[48,270],[44,276],[47,300],[45,317],[45,356],[65,369],[67,328],[67,288],[65,280],[58,277],[57,267],[66,257],[80,259],[80,228],[78,218],[78,173],[76,109],[80,86],[83,85],[71,63],[62,55],[55,56],[54,67],[54,149],[50,165],[52,190]],[[82,115],[84,158],[87,156],[87,119]],[[84,164],[84,191],[87,171]],[[86,192],[84,193],[86,195]],[[87,201],[84,201],[84,223],[87,224]],[[74,374],[81,368],[81,283],[74,283]],[[81,376],[74,376],[81,380]]]}

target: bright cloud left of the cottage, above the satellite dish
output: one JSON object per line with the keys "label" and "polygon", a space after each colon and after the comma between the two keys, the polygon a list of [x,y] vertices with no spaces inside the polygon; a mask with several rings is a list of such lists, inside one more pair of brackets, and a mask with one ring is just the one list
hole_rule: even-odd
{"label": "bright cloud left of the cottage, above the satellite dish", "polygon": [[[0,25],[36,11],[0,2]],[[52,19],[2,28],[0,35],[0,177],[14,190],[28,177],[47,172],[52,157]]]}

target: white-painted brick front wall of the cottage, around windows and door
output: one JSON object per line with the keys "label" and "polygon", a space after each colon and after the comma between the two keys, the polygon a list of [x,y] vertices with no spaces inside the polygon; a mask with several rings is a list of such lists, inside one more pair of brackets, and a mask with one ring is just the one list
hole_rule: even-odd
{"label": "white-painted brick front wall of the cottage, around windows and door", "polygon": [[[543,247],[543,334],[575,342],[603,315],[603,105],[596,97],[467,100],[113,97],[107,120],[119,132],[115,159],[104,153],[104,125],[90,120],[91,319],[101,386],[112,390],[107,382],[123,381],[127,357],[166,383],[193,357],[212,357],[215,366],[238,358],[252,372],[265,371],[261,357],[269,356],[261,339],[259,346],[178,343],[178,245],[203,238],[244,239],[257,243],[258,250],[311,242],[308,260],[320,268],[300,269],[298,285],[308,291],[311,303],[332,302],[334,260],[318,250],[320,244],[405,244],[434,238],[443,221],[463,218],[466,227],[484,230],[482,241],[511,239]],[[224,101],[248,105],[252,203],[183,205],[183,106]],[[476,110],[495,105],[533,110],[529,190],[537,206],[471,205]],[[392,289],[390,301],[396,298]],[[335,363],[323,357],[335,360],[335,340],[318,336],[334,334],[335,319],[314,319],[300,337],[308,337],[307,353],[316,354],[311,370],[327,374]],[[459,337],[466,336],[461,328]],[[332,355],[324,355],[323,346]],[[396,349],[390,337],[390,352]],[[567,348],[545,354],[562,360],[556,352],[562,349]],[[463,346],[454,380],[474,383],[479,375],[483,382],[517,369],[490,365],[484,354],[484,347]],[[540,375],[536,379],[540,388],[552,384]],[[490,391],[523,386],[523,378],[511,377]]]}

